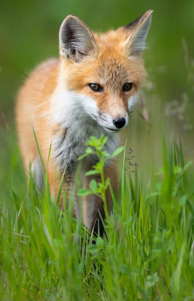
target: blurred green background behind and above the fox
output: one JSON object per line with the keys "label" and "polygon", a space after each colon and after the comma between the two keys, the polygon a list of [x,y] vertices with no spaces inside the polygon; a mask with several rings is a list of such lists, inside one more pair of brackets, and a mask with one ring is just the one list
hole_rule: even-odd
{"label": "blurred green background behind and above the fox", "polygon": [[175,139],[181,133],[185,156],[193,159],[193,1],[11,0],[2,1],[0,9],[1,169],[9,161],[9,128],[14,125],[17,90],[37,64],[58,56],[63,19],[74,14],[92,30],[106,31],[126,25],[149,9],[154,12],[149,49],[144,53],[148,80],[143,96],[151,126],[135,115],[126,131],[128,147],[134,150],[142,179],[161,166],[162,127],[166,136],[174,132]]}

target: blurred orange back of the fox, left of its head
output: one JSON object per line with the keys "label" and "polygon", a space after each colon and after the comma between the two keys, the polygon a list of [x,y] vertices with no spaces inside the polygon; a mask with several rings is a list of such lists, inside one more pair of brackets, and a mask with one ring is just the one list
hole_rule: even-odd
{"label": "blurred orange back of the fox, left of its head", "polygon": [[[44,113],[55,89],[58,60],[50,59],[39,65],[19,90],[16,105],[16,127],[22,154],[33,159],[37,146],[33,134],[42,140]],[[28,155],[27,155],[28,154]]]}

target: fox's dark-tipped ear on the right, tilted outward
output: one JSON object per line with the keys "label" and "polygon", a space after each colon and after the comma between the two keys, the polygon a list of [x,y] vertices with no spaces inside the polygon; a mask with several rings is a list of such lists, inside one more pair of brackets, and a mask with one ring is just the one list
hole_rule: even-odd
{"label": "fox's dark-tipped ear on the right, tilted outward", "polygon": [[153,11],[147,11],[135,21],[124,26],[124,31],[129,31],[129,37],[125,42],[127,53],[130,56],[138,56],[146,48],[146,38],[151,25]]}

